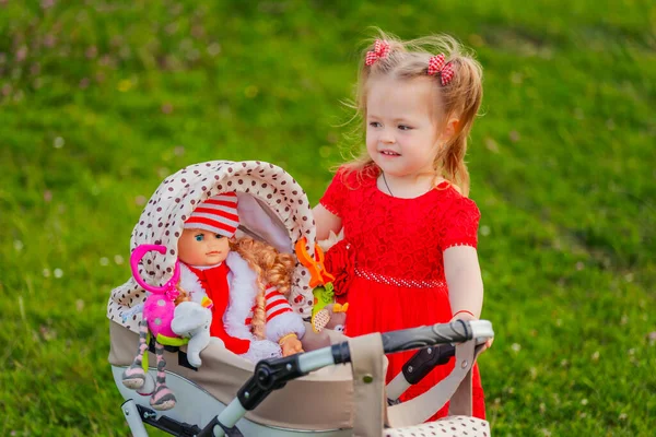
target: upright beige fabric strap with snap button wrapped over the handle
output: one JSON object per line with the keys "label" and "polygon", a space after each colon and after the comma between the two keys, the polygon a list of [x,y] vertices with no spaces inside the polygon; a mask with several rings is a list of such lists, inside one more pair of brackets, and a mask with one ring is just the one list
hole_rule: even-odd
{"label": "upright beige fabric strap with snap button wrapped over the handle", "polygon": [[385,354],[379,333],[349,339],[353,367],[353,435],[379,436],[385,414]]}

